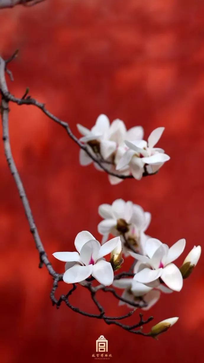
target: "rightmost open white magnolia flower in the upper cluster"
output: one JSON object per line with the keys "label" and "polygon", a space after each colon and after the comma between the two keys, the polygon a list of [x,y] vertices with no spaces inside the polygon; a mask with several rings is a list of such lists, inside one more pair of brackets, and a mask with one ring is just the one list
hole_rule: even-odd
{"label": "rightmost open white magnolia flower in the upper cluster", "polygon": [[125,143],[129,149],[117,163],[116,169],[122,170],[128,166],[130,173],[138,180],[142,178],[145,171],[144,165],[146,165],[149,174],[158,171],[164,162],[170,159],[170,156],[164,154],[163,149],[154,147],[163,131],[164,127],[158,127],[152,131],[148,137],[148,142],[145,140],[135,140],[133,142],[126,140]]}

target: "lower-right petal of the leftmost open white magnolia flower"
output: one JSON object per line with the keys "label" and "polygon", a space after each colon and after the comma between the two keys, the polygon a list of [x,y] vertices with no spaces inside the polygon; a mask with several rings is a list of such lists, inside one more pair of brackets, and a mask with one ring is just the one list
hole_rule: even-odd
{"label": "lower-right petal of the leftmost open white magnolia flower", "polygon": [[102,285],[110,286],[113,284],[114,274],[110,262],[103,260],[97,261],[93,266],[92,276]]}

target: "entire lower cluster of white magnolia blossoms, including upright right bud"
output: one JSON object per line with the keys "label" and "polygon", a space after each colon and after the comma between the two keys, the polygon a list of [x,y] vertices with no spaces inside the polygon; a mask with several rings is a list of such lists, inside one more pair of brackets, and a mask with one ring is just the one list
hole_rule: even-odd
{"label": "entire lower cluster of white magnolia blossoms, including upright right bud", "polygon": [[[102,245],[88,231],[79,232],[74,245],[77,252],[56,252],[53,254],[65,263],[63,280],[68,283],[85,283],[92,276],[100,284],[123,289],[122,298],[132,302],[144,301],[144,310],[150,309],[160,298],[160,293],[180,291],[183,279],[187,278],[196,266],[201,247],[195,246],[185,258],[180,269],[174,261],[185,248],[185,239],[177,241],[170,248],[156,238],[146,235],[151,215],[142,207],[117,199],[110,204],[99,206],[99,214],[104,218],[98,224],[103,235]],[[115,236],[108,240],[109,234]],[[133,252],[135,251],[135,252]],[[104,256],[110,254],[109,261]],[[123,257],[135,260],[134,277],[114,280],[114,272],[122,263]],[[120,305],[126,302],[120,301]]]}

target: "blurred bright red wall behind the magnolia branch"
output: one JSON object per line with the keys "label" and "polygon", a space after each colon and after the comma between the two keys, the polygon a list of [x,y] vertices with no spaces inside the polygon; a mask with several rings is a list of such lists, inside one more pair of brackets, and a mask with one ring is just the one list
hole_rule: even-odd
{"label": "blurred bright red wall behind the magnolia branch", "polygon": [[[159,142],[171,156],[154,177],[111,186],[105,173],[78,164],[78,147],[66,132],[29,106],[10,105],[13,154],[54,268],[52,253],[72,250],[76,234],[96,237],[101,203],[118,197],[152,213],[148,234],[164,243],[187,239],[184,254],[203,245],[204,5],[188,0],[45,1],[0,10],[0,51],[20,55],[11,64],[13,94],[27,86],[78,135],[100,113],[142,125],[147,137],[165,126]],[[138,337],[82,317],[49,300],[51,278],[38,254],[0,145],[1,362],[92,362],[95,340],[109,340],[112,362],[203,362],[203,257],[180,293],[162,295],[145,317],[155,323],[179,316],[159,340]],[[184,256],[183,256],[184,257]],[[180,258],[179,263],[182,262]],[[127,262],[127,265],[130,261]],[[61,293],[67,286],[61,284]],[[126,313],[99,293],[107,314]],[[72,302],[95,307],[82,288]],[[131,322],[138,320],[138,312]],[[151,326],[151,324],[150,324]],[[148,327],[144,327],[144,331]]]}

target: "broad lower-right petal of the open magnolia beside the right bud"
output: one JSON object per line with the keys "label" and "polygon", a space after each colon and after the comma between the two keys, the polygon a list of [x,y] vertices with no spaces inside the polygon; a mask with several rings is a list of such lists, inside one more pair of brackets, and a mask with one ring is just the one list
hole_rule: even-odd
{"label": "broad lower-right petal of the open magnolia beside the right bud", "polygon": [[174,291],[180,291],[183,286],[183,277],[180,270],[174,264],[169,264],[162,269],[162,280]]}

